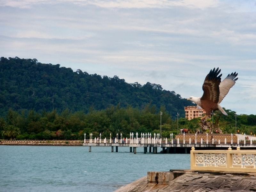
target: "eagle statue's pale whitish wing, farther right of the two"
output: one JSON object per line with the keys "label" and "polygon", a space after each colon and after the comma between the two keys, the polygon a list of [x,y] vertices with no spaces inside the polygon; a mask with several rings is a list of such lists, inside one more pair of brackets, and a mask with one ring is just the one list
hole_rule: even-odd
{"label": "eagle statue's pale whitish wing, farther right of the two", "polygon": [[220,82],[220,96],[218,103],[220,103],[224,99],[224,97],[228,94],[230,88],[233,87],[233,85],[236,83],[236,80],[238,79],[238,77],[236,78],[236,76],[236,72],[231,73],[230,75],[228,74],[228,76]]}

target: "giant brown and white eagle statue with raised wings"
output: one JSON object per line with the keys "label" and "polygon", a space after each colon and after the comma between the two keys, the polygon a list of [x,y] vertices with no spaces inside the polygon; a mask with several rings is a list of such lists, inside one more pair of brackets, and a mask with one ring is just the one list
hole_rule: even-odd
{"label": "giant brown and white eagle statue with raised wings", "polygon": [[206,116],[210,116],[212,111],[220,110],[222,114],[228,115],[226,111],[220,106],[220,102],[228,94],[229,90],[236,83],[237,73],[228,74],[228,76],[221,81],[219,68],[213,68],[205,77],[203,84],[204,94],[202,97],[189,97],[188,100],[193,101],[206,111]]}

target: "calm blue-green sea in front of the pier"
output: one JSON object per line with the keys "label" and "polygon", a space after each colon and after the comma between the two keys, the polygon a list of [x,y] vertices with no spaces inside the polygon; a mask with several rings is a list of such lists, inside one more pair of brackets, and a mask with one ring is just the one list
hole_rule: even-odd
{"label": "calm blue-green sea in front of the pier", "polygon": [[[158,152],[161,148],[158,148]],[[114,148],[115,151],[115,148]],[[189,154],[137,154],[129,147],[0,146],[0,191],[108,192],[148,171],[189,169]]]}

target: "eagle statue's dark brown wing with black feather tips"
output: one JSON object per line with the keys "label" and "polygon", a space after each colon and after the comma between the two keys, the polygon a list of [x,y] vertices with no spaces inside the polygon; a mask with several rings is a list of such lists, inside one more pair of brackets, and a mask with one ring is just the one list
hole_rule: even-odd
{"label": "eagle statue's dark brown wing with black feather tips", "polygon": [[[220,99],[220,81],[221,76],[219,68],[213,68],[204,79],[203,91],[204,94],[201,100],[210,100],[214,103],[218,103]],[[219,75],[219,76],[218,76]],[[225,89],[226,90],[226,89]]]}

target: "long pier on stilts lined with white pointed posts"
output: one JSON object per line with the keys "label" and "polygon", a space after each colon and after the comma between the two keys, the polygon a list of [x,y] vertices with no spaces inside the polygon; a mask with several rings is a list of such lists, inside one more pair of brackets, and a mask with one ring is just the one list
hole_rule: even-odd
{"label": "long pier on stilts lined with white pointed posts", "polygon": [[[170,139],[159,139],[158,134],[154,134],[154,137],[150,136],[147,138],[143,137],[141,133],[141,138],[138,138],[138,133],[136,133],[136,138],[132,137],[130,139],[92,139],[92,134],[90,133],[90,139],[85,140],[83,146],[89,147],[89,152],[92,151],[92,147],[111,147],[111,152],[118,152],[118,147],[130,147],[130,152],[136,154],[137,148],[144,148],[144,153],[158,153],[157,148],[162,148],[161,153],[190,153],[190,149],[195,147],[198,150],[220,150],[227,148],[237,148],[241,149],[256,149],[256,138],[248,135],[233,135],[233,134],[180,134]],[[240,139],[239,139],[240,138]],[[243,139],[244,140],[241,140]]]}

